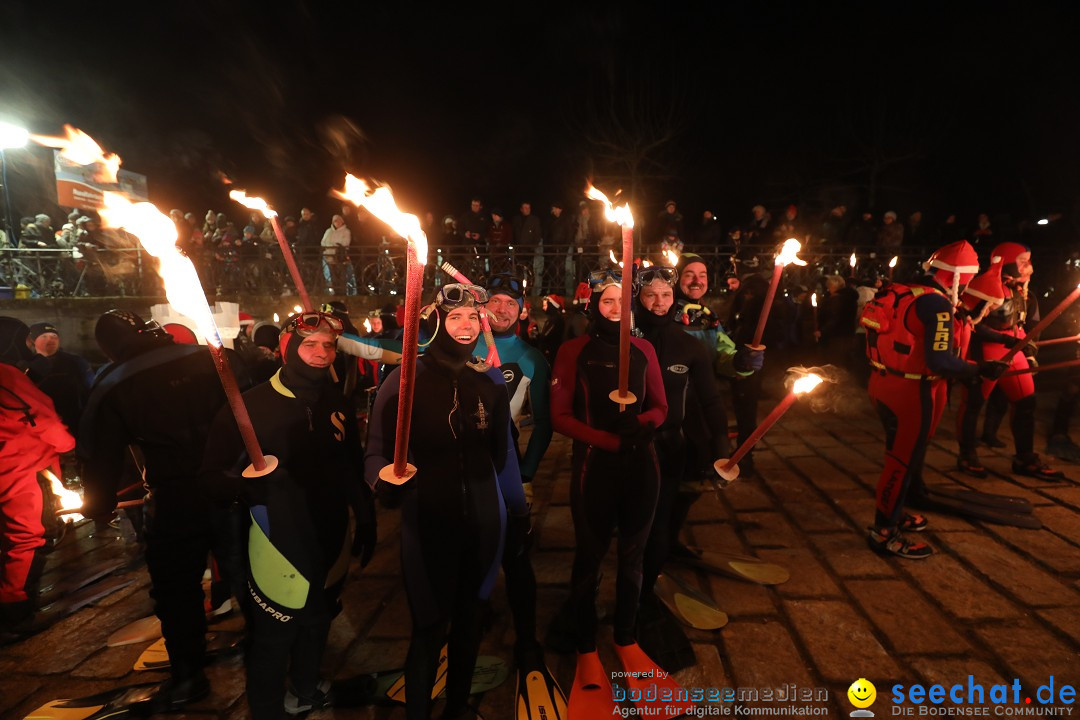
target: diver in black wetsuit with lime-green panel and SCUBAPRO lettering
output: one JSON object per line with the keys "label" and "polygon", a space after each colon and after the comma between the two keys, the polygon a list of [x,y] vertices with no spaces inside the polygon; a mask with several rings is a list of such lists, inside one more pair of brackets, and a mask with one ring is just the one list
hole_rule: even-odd
{"label": "diver in black wetsuit with lime-green panel and SCUBAPRO lettering", "polygon": [[329,373],[340,332],[340,321],[329,314],[291,317],[281,334],[284,367],[244,393],[260,449],[278,460],[275,471],[241,477],[249,458],[226,409],[206,447],[204,481],[221,499],[240,495],[251,513],[245,657],[247,702],[257,720],[326,706],[329,683],[320,681],[319,667],[350,548],[363,566],[375,546],[355,416]]}

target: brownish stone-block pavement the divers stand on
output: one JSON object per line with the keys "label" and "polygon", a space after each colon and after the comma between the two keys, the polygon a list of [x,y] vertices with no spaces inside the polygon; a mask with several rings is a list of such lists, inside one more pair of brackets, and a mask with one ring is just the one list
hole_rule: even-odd
{"label": "brownish stone-block pavement the divers stand on", "polygon": [[[1053,399],[1041,398],[1040,407],[1050,409]],[[762,412],[773,403],[762,402]],[[1013,477],[1008,452],[986,450],[988,479],[958,475],[953,472],[950,409],[927,453],[927,480],[1027,498],[1045,527],[1021,530],[930,513],[926,538],[937,548],[936,556],[920,562],[882,559],[864,542],[882,431],[863,391],[852,389],[850,405],[842,417],[796,406],[756,454],[758,477],[720,492],[704,488],[686,540],[757,555],[789,568],[792,578],[765,587],[675,568],[675,574],[710,594],[730,616],[718,631],[688,629],[698,666],[676,678],[685,687],[823,688],[829,699],[816,706],[841,717],[852,709],[847,688],[860,677],[870,679],[885,698],[872,708],[878,717],[890,714],[894,683],[966,685],[973,675],[988,689],[1018,678],[1032,699],[1050,676],[1058,688],[1080,684],[1080,467],[1061,463],[1072,476],[1065,483]],[[1041,432],[1040,424],[1040,448]],[[569,582],[569,441],[556,436],[536,478],[534,561],[541,631]],[[329,677],[392,668],[404,661],[409,622],[399,578],[397,529],[399,516],[381,512],[376,557],[363,572],[353,568],[345,611],[334,623],[326,652]],[[86,538],[80,547],[103,552],[116,542]],[[611,607],[613,598],[615,567],[608,560],[602,608]],[[112,630],[151,610],[145,569],[133,574],[133,585],[98,607],[0,649],[4,717],[21,718],[51,698],[149,679],[132,671],[140,646],[104,647]],[[501,585],[492,604],[494,622],[482,653],[509,660],[513,630]],[[618,667],[609,625],[602,625],[600,644],[606,666]],[[569,691],[572,656],[549,654],[548,660]],[[208,673],[211,698],[177,717],[245,717],[240,657],[219,660]],[[478,706],[488,720],[509,719],[514,717],[513,698],[511,677],[478,698]],[[403,718],[404,710],[327,710],[311,717]]]}

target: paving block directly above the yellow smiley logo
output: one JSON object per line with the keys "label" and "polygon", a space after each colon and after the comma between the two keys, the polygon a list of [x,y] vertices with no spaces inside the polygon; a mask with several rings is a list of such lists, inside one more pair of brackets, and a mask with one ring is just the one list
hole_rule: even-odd
{"label": "paving block directly above the yellow smiley logo", "polygon": [[825,680],[850,684],[852,668],[863,677],[893,677],[900,668],[847,602],[784,600],[784,608],[810,660]]}

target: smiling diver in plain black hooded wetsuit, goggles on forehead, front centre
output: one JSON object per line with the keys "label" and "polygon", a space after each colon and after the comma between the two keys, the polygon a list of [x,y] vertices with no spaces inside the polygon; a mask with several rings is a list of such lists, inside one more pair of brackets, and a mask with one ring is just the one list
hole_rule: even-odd
{"label": "smiling diver in plain black hooded wetsuit, goggles on forehead, front centre", "polygon": [[[451,284],[432,305],[434,337],[417,363],[409,431],[416,475],[400,486],[378,480],[394,457],[400,369],[388,376],[375,400],[365,454],[368,483],[378,484],[387,504],[402,507],[402,567],[413,616],[405,662],[410,685],[434,684],[449,626],[443,718],[471,712],[467,699],[482,601],[498,578],[507,511],[528,513],[502,373],[472,357],[480,337],[476,305],[486,300],[483,288]],[[426,720],[431,705],[428,692],[409,692],[406,717]]]}

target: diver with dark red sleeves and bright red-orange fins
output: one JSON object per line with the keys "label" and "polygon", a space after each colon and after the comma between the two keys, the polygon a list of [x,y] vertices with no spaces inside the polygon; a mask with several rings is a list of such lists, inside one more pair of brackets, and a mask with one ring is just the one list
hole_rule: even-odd
{"label": "diver with dark red sleeves and bright red-orange fins", "polygon": [[[567,341],[555,358],[551,411],[555,431],[573,439],[570,510],[576,551],[570,598],[549,633],[549,643],[578,653],[571,717],[612,714],[607,671],[596,648],[596,586],[600,563],[618,532],[615,650],[627,676],[663,678],[637,646],[642,561],[660,477],[652,435],[667,416],[667,399],[656,351],[631,338],[629,391],[637,398],[622,408],[609,394],[619,384],[621,273],[592,273],[592,322],[585,335]],[[616,708],[617,709],[617,708]]]}

